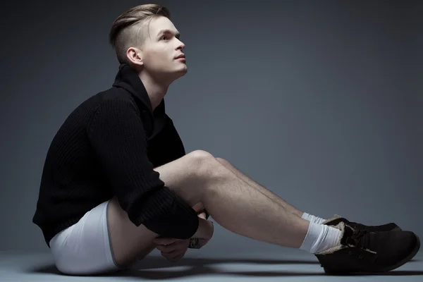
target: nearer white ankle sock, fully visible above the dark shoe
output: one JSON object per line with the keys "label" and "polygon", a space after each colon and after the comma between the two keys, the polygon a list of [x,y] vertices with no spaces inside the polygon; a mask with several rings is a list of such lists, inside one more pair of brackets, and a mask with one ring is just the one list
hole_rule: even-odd
{"label": "nearer white ankle sock, fully visible above the dark shoe", "polygon": [[300,247],[315,254],[341,244],[341,230],[332,226],[310,222],[309,230]]}

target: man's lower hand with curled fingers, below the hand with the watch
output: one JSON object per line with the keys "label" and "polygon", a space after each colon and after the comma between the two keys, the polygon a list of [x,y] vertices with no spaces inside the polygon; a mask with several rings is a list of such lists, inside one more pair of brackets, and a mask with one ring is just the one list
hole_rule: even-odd
{"label": "man's lower hand with curled fingers, below the hand with the watch", "polygon": [[177,262],[187,252],[190,239],[156,238],[153,243],[157,244],[157,250],[161,251],[161,255],[169,262]]}

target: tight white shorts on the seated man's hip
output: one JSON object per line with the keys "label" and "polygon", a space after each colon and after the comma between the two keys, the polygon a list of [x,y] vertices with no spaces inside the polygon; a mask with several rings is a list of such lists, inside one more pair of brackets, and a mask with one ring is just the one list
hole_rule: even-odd
{"label": "tight white shorts on the seated man's hip", "polygon": [[50,240],[57,269],[68,275],[102,274],[121,269],[111,251],[107,206],[99,204]]}

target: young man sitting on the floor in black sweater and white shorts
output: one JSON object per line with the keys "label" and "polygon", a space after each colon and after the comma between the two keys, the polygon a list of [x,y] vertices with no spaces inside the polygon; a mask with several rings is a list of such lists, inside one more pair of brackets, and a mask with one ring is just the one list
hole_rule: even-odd
{"label": "young man sitting on the floor in black sweater and white shorts", "polygon": [[[157,247],[176,261],[229,231],[317,256],[326,272],[389,271],[419,239],[394,223],[320,219],[291,206],[228,161],[185,154],[164,96],[187,73],[166,8],[141,5],[110,32],[121,63],[109,90],[75,109],[51,142],[33,218],[64,274],[130,266]],[[206,210],[207,209],[207,210]]]}

